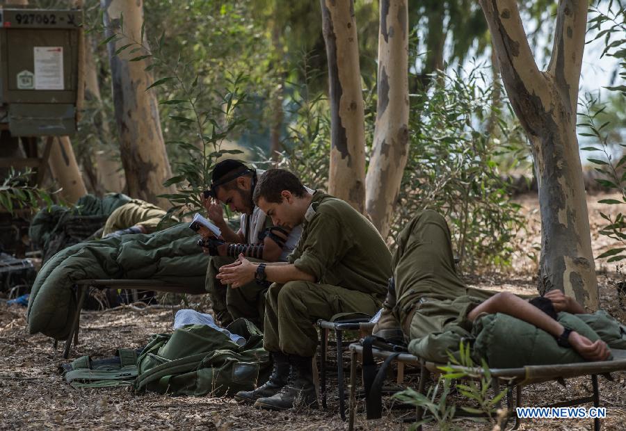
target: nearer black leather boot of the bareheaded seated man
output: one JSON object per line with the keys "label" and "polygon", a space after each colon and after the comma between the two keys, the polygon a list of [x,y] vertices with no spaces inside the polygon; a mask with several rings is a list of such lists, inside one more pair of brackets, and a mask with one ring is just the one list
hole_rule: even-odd
{"label": "nearer black leather boot of the bareheaded seated man", "polygon": [[313,358],[289,355],[291,374],[289,382],[280,392],[267,398],[259,398],[255,407],[259,409],[287,410],[303,406],[317,408],[317,393],[313,383]]}

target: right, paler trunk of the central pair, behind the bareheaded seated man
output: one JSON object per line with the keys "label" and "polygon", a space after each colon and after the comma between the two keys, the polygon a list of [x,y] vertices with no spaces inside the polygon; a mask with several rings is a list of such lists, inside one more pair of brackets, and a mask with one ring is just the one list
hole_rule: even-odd
{"label": "right, paler trunk of the central pair, behind the bareheaded seated man", "polygon": [[378,105],[365,180],[367,214],[386,238],[408,158],[408,4],[380,0]]}

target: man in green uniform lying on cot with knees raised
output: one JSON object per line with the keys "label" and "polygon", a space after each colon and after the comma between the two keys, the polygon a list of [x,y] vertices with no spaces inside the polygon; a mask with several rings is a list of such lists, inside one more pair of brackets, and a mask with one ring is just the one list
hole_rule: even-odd
{"label": "man in green uniform lying on cot with knees raised", "polygon": [[[559,345],[575,349],[588,360],[607,359],[602,340],[592,342],[567,330],[549,314],[566,311],[582,314],[584,309],[551,291],[545,302],[552,313],[508,292],[495,293],[470,288],[458,277],[452,257],[450,231],[435,211],[419,213],[398,237],[394,253],[394,283],[390,283],[380,320],[373,334],[387,341],[409,342],[411,352],[425,359],[447,362],[448,353],[458,350],[461,339],[472,338],[474,321],[484,314],[507,314],[552,334]],[[543,307],[543,306],[542,306]]]}

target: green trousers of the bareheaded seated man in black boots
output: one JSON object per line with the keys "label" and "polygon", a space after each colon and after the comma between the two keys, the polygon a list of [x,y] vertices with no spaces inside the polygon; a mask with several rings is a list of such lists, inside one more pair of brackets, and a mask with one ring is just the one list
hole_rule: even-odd
{"label": "green trousers of the bareheaded seated man in black boots", "polygon": [[317,348],[318,319],[339,313],[376,314],[382,298],[330,284],[274,283],[266,296],[263,347],[269,352],[312,357]]}

